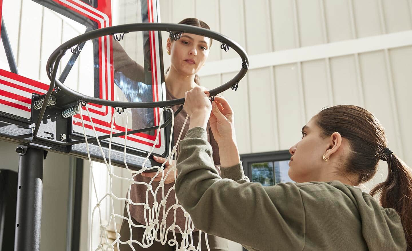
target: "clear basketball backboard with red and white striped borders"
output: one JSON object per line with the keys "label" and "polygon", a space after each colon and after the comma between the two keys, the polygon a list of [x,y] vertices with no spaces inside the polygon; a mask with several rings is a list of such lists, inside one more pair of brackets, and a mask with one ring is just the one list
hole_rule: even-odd
{"label": "clear basketball backboard with red and white striped borders", "polygon": [[[30,136],[33,120],[37,119],[32,115],[32,95],[42,95],[49,88],[47,59],[60,44],[84,32],[126,23],[158,22],[158,1],[22,0],[17,8],[14,0],[0,0],[0,7],[0,139],[87,158],[85,144],[58,146],[41,140],[41,137],[64,142],[81,139],[80,115],[73,116],[68,122],[66,137],[59,128],[40,129],[40,140]],[[160,33],[156,31],[127,33],[120,41],[115,40],[115,36],[89,40],[80,53],[63,56],[57,76],[73,90],[96,98],[162,101],[166,99],[166,93],[161,43]],[[98,135],[110,133],[115,109],[94,104],[88,104],[88,107],[90,118],[86,111],[83,112],[87,135],[94,136],[90,119]],[[128,130],[159,125],[164,116],[159,108],[126,109],[126,112],[129,115]],[[124,118],[116,117],[113,133],[126,130]],[[141,167],[143,158],[136,155],[145,156],[150,151],[156,133],[127,136],[126,161],[130,167]],[[153,153],[166,154],[168,134],[167,128],[161,129]],[[113,138],[113,142],[117,148],[115,146],[112,152],[112,162],[122,165],[124,137]],[[101,161],[97,146],[90,144],[90,147],[92,158]]]}

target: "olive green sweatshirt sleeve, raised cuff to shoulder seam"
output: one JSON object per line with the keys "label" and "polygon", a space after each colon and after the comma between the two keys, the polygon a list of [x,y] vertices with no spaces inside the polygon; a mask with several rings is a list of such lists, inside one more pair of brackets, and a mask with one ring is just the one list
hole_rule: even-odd
{"label": "olive green sweatshirt sleeve, raised cuff to shoulder seam", "polygon": [[222,168],[227,179],[221,178],[201,127],[189,130],[178,148],[176,195],[196,228],[249,250],[303,249],[305,216],[295,185],[246,182],[241,164]]}

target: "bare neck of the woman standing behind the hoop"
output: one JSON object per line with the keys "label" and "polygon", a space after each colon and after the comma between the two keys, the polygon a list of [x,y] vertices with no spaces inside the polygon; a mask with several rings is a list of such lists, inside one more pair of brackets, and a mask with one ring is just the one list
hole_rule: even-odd
{"label": "bare neck of the woman standing behind the hoop", "polygon": [[185,93],[197,86],[194,82],[194,76],[195,74],[182,75],[171,66],[164,79],[166,88],[174,97],[185,98]]}

